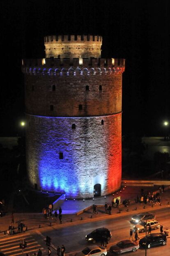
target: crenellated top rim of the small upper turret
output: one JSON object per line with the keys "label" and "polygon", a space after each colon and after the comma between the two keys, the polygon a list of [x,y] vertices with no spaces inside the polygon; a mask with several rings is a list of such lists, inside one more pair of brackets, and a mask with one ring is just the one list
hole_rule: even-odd
{"label": "crenellated top rim of the small upper turret", "polygon": [[102,42],[101,35],[48,35],[44,37],[45,44],[53,44],[56,42],[80,43],[80,42]]}

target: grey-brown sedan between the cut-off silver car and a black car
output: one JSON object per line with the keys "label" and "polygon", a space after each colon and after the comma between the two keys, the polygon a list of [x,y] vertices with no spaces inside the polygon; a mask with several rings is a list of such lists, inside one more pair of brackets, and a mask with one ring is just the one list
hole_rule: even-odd
{"label": "grey-brown sedan between the cut-off silver car and a black car", "polygon": [[138,242],[133,242],[131,240],[123,240],[116,245],[110,247],[110,252],[115,254],[122,254],[126,251],[136,251],[139,248]]}

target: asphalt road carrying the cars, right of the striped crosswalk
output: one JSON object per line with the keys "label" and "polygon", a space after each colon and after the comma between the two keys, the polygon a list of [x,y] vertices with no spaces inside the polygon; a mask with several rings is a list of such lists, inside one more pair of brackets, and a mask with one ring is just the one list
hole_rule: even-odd
{"label": "asphalt road carrying the cars, right of the striped crosswalk", "polygon": [[[151,212],[155,212],[154,210]],[[136,213],[136,212],[134,212]],[[159,221],[161,225],[163,225],[163,229],[170,228],[170,209],[160,209],[155,212],[156,220]],[[52,244],[57,247],[62,244],[66,247],[66,253],[73,254],[76,251],[82,250],[83,248],[91,245],[90,243],[85,241],[85,236],[88,233],[91,233],[94,229],[99,227],[106,227],[112,232],[112,238],[109,241],[108,249],[111,245],[124,240],[129,239],[129,231],[130,228],[133,228],[133,223],[130,222],[131,214],[126,216],[119,216],[114,219],[106,219],[102,221],[95,221],[90,223],[79,224],[76,226],[70,226],[67,228],[55,229],[52,228],[50,231],[41,232],[41,237],[46,237],[46,235],[50,236],[52,239]],[[153,232],[159,232],[159,230],[154,230]],[[139,237],[143,237],[143,234],[140,234]],[[99,244],[99,243],[98,243]],[[160,251],[159,255],[163,255],[164,253],[168,253],[170,250],[170,242],[164,247],[156,247],[152,248],[148,251],[148,255],[156,255],[158,251]],[[132,252],[126,253],[125,255],[131,255]],[[138,250],[135,254],[145,255],[145,250]],[[158,254],[157,254],[158,255]]]}

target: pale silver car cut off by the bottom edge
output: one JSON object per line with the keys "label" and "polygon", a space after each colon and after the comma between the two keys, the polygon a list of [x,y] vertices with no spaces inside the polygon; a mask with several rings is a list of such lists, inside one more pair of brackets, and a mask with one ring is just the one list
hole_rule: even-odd
{"label": "pale silver car cut off by the bottom edge", "polygon": [[105,256],[107,254],[107,250],[106,248],[102,247],[102,246],[89,246],[85,249],[83,249],[83,251],[79,251],[75,254],[75,256]]}

